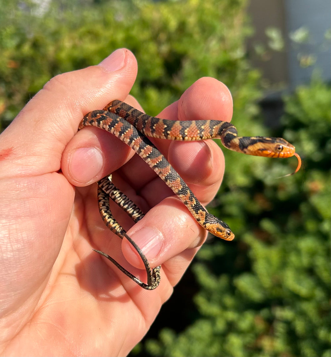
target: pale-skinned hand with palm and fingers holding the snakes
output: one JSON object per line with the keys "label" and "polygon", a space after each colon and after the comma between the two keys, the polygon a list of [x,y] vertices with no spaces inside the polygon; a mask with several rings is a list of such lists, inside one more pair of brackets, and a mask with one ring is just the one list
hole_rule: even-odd
{"label": "pale-skinned hand with palm and fingers holding the snakes", "polygon": [[[114,99],[141,110],[129,95],[136,72],[133,54],[120,49],[98,66],[59,75],[0,136],[2,355],[127,355],[206,239],[182,202],[128,146],[94,127],[77,132],[86,113]],[[158,116],[230,121],[231,94],[221,82],[202,78]],[[216,143],[154,143],[207,205],[224,172]],[[111,172],[148,212],[134,225],[112,206],[150,265],[162,265],[153,291],[92,250],[108,253],[145,281],[137,253],[99,215],[95,182]]]}

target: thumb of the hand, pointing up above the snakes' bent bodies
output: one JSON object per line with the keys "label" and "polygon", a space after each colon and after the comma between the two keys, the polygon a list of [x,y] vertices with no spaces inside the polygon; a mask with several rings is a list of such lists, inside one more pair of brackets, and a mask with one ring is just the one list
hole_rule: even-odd
{"label": "thumb of the hand, pointing up above the snakes' bent bodies", "polygon": [[0,161],[0,172],[8,177],[60,170],[63,150],[83,116],[112,99],[125,99],[136,73],[134,55],[118,49],[98,66],[52,78],[1,134],[6,160]]}

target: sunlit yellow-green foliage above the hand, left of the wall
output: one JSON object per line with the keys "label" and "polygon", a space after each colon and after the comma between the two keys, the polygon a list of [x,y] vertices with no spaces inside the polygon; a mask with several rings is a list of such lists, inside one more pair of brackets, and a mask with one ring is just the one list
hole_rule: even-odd
{"label": "sunlit yellow-green foliage above the hand, left of the wall", "polygon": [[16,17],[0,25],[2,120],[10,121],[51,77],[98,64],[119,47],[137,57],[132,94],[150,114],[177,100],[199,77],[222,78],[240,91],[254,73],[244,61],[245,0],[118,0],[92,7],[54,1],[38,16],[33,2],[0,0],[0,6],[11,14],[15,2]]}

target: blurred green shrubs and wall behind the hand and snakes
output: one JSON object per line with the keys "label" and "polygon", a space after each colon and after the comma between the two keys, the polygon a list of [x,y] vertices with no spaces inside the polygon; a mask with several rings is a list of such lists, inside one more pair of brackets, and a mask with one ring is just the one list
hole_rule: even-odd
{"label": "blurred green shrubs and wall behind the hand and snakes", "polygon": [[236,239],[208,239],[131,357],[331,356],[330,20],[326,0],[0,0],[2,130],[51,77],[127,47],[148,114],[212,76],[241,135],[302,157],[276,179],[295,158],[224,152],[208,208]]}

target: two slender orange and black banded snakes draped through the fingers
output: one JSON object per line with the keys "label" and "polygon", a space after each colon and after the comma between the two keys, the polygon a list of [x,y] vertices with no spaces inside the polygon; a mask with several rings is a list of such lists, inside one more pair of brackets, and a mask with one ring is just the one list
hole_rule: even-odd
{"label": "two slender orange and black banded snakes draped through the fingers", "polygon": [[[147,137],[181,141],[221,139],[222,144],[227,149],[247,155],[283,158],[295,155],[299,161],[295,172],[300,169],[301,165],[301,159],[295,153],[295,147],[284,139],[263,136],[239,137],[237,136],[236,127],[226,121],[174,121],[159,119],[144,114],[120,100],[110,102],[103,110],[94,110],[86,114],[78,129],[82,129],[88,125],[107,130],[129,145],[159,175],[167,186],[174,191],[203,228],[216,237],[227,241],[231,241],[234,238],[234,234],[229,226],[202,207],[190,188]],[[125,237],[128,239],[139,253],[147,272],[147,283],[132,275],[106,253],[98,250],[95,251],[113,262],[141,287],[153,290],[160,282],[160,266],[154,269],[150,268],[149,262],[143,252],[112,216],[109,207],[109,197],[128,213],[135,222],[144,216],[143,212],[123,192],[113,185],[110,176],[104,177],[98,182],[100,215],[111,231],[116,233],[120,238]]]}

